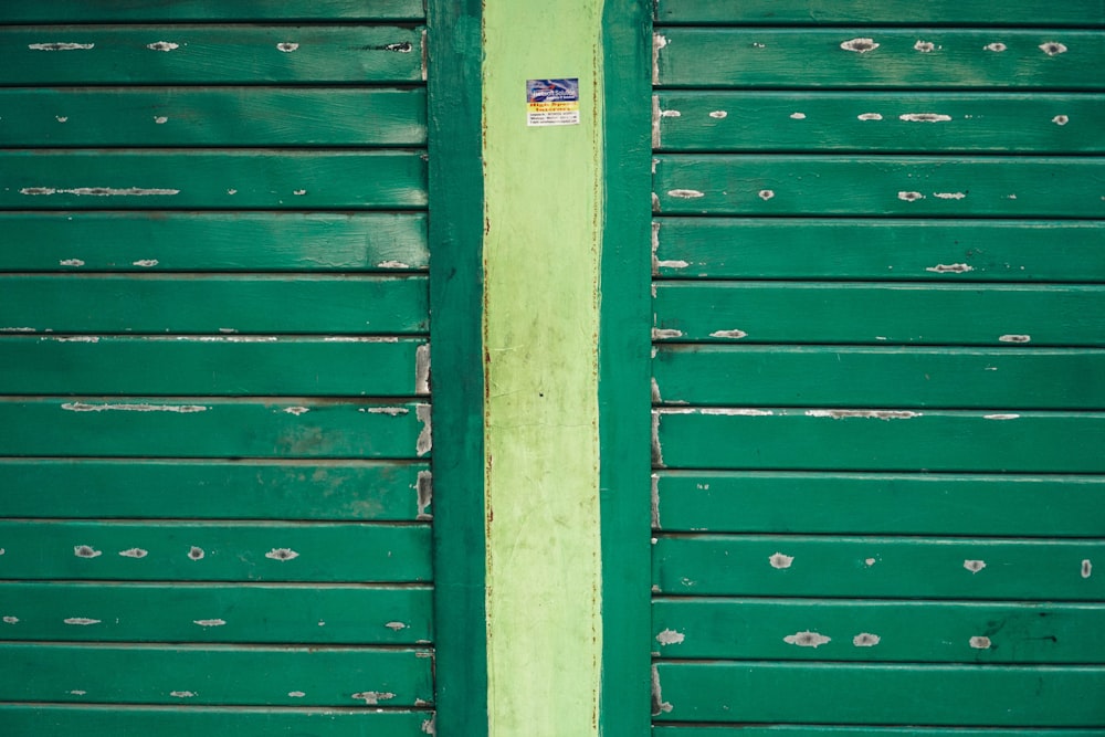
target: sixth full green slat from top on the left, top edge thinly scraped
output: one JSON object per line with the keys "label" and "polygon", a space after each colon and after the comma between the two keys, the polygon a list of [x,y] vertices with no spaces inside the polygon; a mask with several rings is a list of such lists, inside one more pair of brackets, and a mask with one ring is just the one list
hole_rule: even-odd
{"label": "sixth full green slat from top on the left, top edge thinly scraped", "polygon": [[422,339],[0,336],[10,394],[411,397],[428,393]]}

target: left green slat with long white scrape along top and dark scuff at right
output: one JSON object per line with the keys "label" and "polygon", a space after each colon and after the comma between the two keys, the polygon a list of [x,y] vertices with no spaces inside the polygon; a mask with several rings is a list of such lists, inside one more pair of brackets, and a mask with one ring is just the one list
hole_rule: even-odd
{"label": "left green slat with long white scrape along top and dark scuff at right", "polygon": [[0,398],[0,454],[51,457],[415,459],[430,407],[280,398]]}

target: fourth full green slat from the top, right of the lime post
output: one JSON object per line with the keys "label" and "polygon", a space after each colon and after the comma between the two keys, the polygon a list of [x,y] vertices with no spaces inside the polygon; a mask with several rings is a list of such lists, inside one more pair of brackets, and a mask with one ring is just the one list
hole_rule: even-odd
{"label": "fourth full green slat from the top, right of the lime post", "polygon": [[1105,281],[1105,223],[657,218],[665,278]]}

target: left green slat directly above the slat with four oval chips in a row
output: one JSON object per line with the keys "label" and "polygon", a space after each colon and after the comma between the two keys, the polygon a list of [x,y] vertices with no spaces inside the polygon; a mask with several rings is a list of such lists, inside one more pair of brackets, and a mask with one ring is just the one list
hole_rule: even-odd
{"label": "left green slat directly above the slat with four oval chips in a row", "polygon": [[0,517],[411,522],[431,501],[424,462],[0,460]]}

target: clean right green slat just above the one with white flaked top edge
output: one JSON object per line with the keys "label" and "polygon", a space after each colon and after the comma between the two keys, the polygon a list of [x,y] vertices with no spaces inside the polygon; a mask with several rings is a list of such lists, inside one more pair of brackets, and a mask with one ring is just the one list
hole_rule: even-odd
{"label": "clean right green slat just above the one with white flaked top edge", "polygon": [[1105,410],[1101,349],[665,345],[652,367],[669,404]]}

